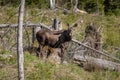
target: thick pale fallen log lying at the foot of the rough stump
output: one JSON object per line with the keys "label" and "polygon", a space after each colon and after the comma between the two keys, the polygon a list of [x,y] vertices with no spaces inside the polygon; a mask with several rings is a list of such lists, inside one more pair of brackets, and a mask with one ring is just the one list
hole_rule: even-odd
{"label": "thick pale fallen log lying at the foot of the rough stump", "polygon": [[90,56],[81,56],[80,54],[74,55],[74,63],[77,63],[83,66],[86,70],[95,70],[95,69],[103,69],[103,70],[112,70],[120,72],[120,64],[112,61],[107,61],[105,59],[94,58]]}

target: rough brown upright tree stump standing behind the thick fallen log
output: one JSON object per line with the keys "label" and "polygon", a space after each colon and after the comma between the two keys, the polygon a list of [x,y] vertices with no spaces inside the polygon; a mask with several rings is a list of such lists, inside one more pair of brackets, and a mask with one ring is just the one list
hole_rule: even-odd
{"label": "rough brown upright tree stump standing behind the thick fallen log", "polygon": [[[102,50],[101,29],[97,28],[93,24],[89,24],[85,29],[85,34],[86,35],[85,35],[85,39],[83,40],[83,43],[87,43],[87,45],[90,46],[91,48],[101,51]],[[95,51],[90,49],[87,49],[85,54],[97,58],[101,57],[100,54],[97,54]]]}

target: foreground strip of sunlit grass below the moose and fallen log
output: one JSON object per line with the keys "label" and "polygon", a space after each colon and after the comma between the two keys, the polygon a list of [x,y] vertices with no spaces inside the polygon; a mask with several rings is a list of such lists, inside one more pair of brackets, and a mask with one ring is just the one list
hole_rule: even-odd
{"label": "foreground strip of sunlit grass below the moose and fallen log", "polygon": [[[87,72],[76,64],[54,64],[25,52],[25,80],[119,80],[116,71]],[[14,59],[15,60],[15,59]],[[14,61],[11,60],[11,61]],[[4,64],[0,80],[17,80],[17,63]]]}

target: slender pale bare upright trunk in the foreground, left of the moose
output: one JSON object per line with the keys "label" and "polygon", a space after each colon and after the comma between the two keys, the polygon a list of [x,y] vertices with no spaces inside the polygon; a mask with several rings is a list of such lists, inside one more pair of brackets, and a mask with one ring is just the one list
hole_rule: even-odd
{"label": "slender pale bare upright trunk in the foreground, left of the moose", "polygon": [[18,54],[18,78],[24,80],[24,55],[23,55],[23,16],[24,16],[25,0],[20,1],[19,17],[18,17],[18,37],[17,37],[17,54]]}

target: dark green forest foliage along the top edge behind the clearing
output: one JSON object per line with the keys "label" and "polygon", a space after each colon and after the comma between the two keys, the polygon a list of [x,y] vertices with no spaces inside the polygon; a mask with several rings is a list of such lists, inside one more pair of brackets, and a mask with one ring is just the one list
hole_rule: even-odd
{"label": "dark green forest foliage along the top edge behind the clearing", "polygon": [[[74,2],[74,1],[73,1]],[[1,0],[1,5],[10,4],[12,6],[18,6],[19,0]],[[57,5],[70,9],[74,4],[71,4],[71,0],[57,0]],[[49,0],[26,0],[27,7],[37,7],[39,9],[48,9],[50,6]],[[78,8],[86,10],[88,13],[99,13],[106,15],[116,15],[120,14],[120,1],[119,0],[78,0]]]}

